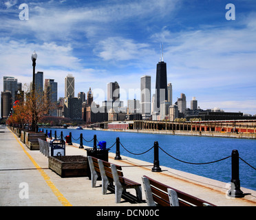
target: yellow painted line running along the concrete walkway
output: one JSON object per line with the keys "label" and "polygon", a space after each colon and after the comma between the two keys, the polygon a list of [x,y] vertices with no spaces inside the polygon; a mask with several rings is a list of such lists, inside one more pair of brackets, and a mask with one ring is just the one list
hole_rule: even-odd
{"label": "yellow painted line running along the concrete walkway", "polygon": [[[9,128],[8,128],[9,129]],[[10,130],[10,129],[9,129]],[[12,132],[12,131],[11,131]],[[14,133],[12,133],[14,135]],[[63,204],[63,206],[72,206],[72,204],[70,204],[69,201],[67,201],[67,199],[62,195],[62,193],[58,190],[58,188],[56,188],[56,186],[54,186],[54,183],[50,180],[50,177],[45,173],[45,171],[41,168],[41,166],[39,166],[39,164],[37,164],[34,160],[34,158],[28,153],[28,151],[25,150],[24,146],[21,144],[21,142],[18,140],[18,138],[16,137],[16,135],[14,135],[14,137],[16,138],[17,142],[19,142],[19,145],[21,145],[24,153],[28,156],[28,158],[30,158],[30,160],[32,161],[32,163],[34,164],[34,166],[36,167],[37,170],[39,170],[39,173],[41,173],[43,179],[45,179],[45,182],[47,183],[47,185],[51,188],[52,192],[54,192],[54,195],[58,198],[59,201],[61,201],[61,203]]]}

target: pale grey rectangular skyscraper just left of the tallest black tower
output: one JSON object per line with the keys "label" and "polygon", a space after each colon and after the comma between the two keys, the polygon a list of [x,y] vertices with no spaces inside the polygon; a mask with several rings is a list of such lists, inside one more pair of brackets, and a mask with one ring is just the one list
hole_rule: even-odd
{"label": "pale grey rectangular skyscraper just left of the tallest black tower", "polygon": [[151,116],[151,76],[140,77],[140,106],[142,119],[149,119]]}

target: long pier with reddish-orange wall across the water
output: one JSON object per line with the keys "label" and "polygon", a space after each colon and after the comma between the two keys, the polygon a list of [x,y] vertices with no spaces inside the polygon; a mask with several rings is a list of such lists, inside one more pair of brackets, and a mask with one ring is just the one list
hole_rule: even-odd
{"label": "long pier with reddish-orange wall across the water", "polygon": [[256,139],[256,120],[196,122],[134,120],[127,122],[103,122],[92,124],[91,126],[112,131]]}

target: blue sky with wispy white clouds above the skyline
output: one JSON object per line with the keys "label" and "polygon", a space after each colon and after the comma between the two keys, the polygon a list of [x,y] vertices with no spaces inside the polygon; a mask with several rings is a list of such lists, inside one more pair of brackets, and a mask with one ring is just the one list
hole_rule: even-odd
{"label": "blue sky with wispy white clouds above the skyline", "polygon": [[141,76],[153,94],[163,43],[173,103],[183,93],[187,107],[195,97],[201,109],[256,114],[255,0],[1,0],[0,19],[0,91],[3,76],[32,81],[35,50],[58,97],[72,74],[76,96],[91,87],[101,104],[117,81],[121,100],[140,100]]}

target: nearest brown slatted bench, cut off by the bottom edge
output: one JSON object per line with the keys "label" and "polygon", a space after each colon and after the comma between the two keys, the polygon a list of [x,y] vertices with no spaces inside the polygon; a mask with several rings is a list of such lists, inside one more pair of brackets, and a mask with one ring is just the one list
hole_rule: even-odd
{"label": "nearest brown slatted bench, cut off by the bottom edge", "polygon": [[150,177],[142,177],[148,206],[215,206]]}

